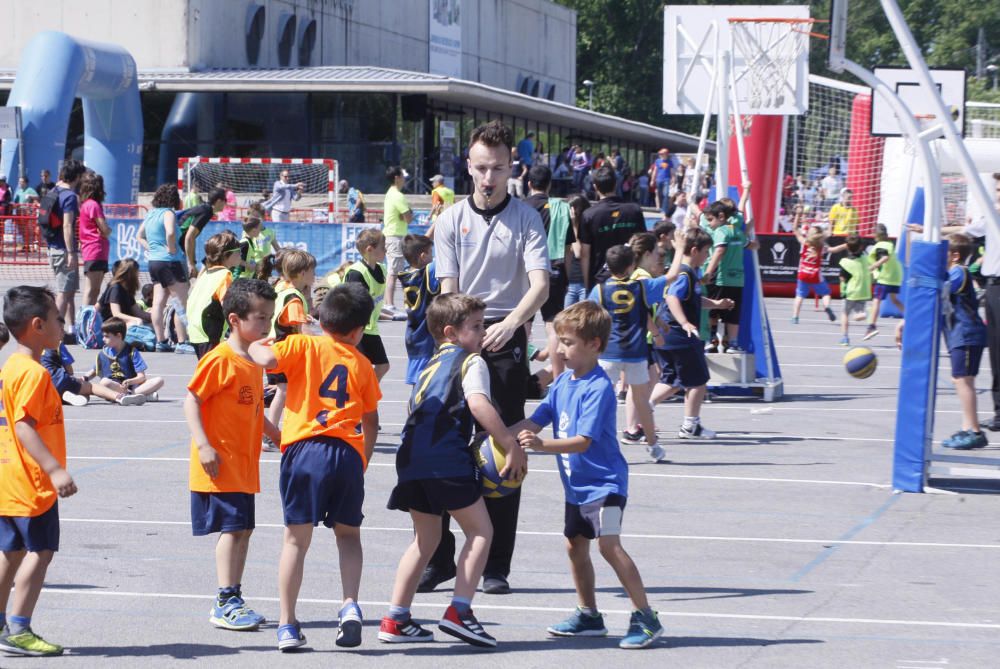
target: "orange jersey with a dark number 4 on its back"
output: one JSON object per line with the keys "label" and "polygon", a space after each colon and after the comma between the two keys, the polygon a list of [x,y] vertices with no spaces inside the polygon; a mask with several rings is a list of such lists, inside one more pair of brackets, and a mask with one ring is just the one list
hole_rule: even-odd
{"label": "orange jersey with a dark number 4 on its back", "polygon": [[329,335],[291,335],[272,348],[278,363],[267,371],[288,378],[281,450],[324,435],[343,439],[365,461],[364,437],[356,428],[382,399],[368,359]]}

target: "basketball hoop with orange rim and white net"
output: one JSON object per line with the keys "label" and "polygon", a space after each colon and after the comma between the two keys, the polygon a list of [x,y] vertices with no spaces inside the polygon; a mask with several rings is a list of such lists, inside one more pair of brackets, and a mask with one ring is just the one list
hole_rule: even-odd
{"label": "basketball hoop with orange rim and white net", "polygon": [[737,80],[749,80],[747,103],[751,113],[762,107],[781,107],[785,96],[794,93],[787,90],[788,76],[806,50],[809,38],[828,39],[812,32],[814,23],[816,19],[729,19],[733,44],[746,61],[745,69],[736,75]]}

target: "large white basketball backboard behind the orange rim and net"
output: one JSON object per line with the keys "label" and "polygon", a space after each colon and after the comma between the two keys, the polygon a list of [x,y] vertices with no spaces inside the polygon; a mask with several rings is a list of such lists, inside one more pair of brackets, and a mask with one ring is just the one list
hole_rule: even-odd
{"label": "large white basketball backboard behind the orange rim and net", "polygon": [[[736,95],[744,114],[798,115],[809,108],[809,53],[798,55],[786,70],[783,94],[761,105],[751,95],[748,60],[733,43],[730,18],[808,19],[808,5],[667,5],[663,22],[663,111],[666,114],[704,114],[712,72],[716,66],[716,39],[720,53],[731,51]],[[773,39],[773,38],[772,38]],[[758,46],[775,50],[767,37]],[[780,74],[779,74],[780,72]],[[753,99],[752,99],[753,98]],[[754,103],[754,104],[751,104]]]}

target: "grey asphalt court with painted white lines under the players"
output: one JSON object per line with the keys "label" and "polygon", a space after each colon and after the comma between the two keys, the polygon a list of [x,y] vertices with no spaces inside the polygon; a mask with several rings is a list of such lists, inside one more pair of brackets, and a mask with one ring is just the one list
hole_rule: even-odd
{"label": "grey asphalt court with painted white lines under the players", "polygon": [[[807,304],[801,324],[791,325],[790,300],[768,304],[786,385],[782,401],[707,404],[703,420],[720,433],[711,442],[674,438],[681,405],[661,405],[656,419],[667,463],[651,463],[641,447],[623,445],[630,463],[623,543],[660,612],[664,639],[627,655],[616,647],[630,607],[596,550],[598,604],[610,636],[547,637],[545,627],[568,615],[576,600],[555,462],[533,454],[510,578],[514,593],[479,594],[473,602],[500,642],[495,653],[502,657],[493,661],[522,667],[995,666],[1000,488],[956,479],[942,483],[950,494],[894,495],[899,353],[893,322],[883,323],[882,334],[869,342],[879,370],[857,381],[843,371],[839,331],[822,312]],[[375,638],[411,536],[408,518],[385,509],[408,392],[402,324],[382,328],[393,368],[383,383],[383,434],[366,477],[362,646],[334,645],[341,589],[336,548],[325,529],[317,530],[299,604],[307,651],[279,656],[273,624],[250,633],[208,624],[214,541],[190,532],[188,432],[180,403],[195,360],[148,354],[151,373],[166,376],[164,401],[66,407],[69,470],[80,492],[60,503],[62,550],[33,623],[69,649],[60,664],[363,667],[398,658],[435,667],[447,658],[475,662],[483,655],[441,633],[434,644],[408,647]],[[536,339],[540,331],[539,324]],[[852,328],[855,340],[861,332]],[[78,369],[93,354],[71,351]],[[960,420],[942,363],[937,439]],[[988,368],[979,386],[988,389]],[[981,392],[984,417],[988,398]],[[1000,437],[994,441],[1000,444]],[[1000,458],[1000,446],[983,455]],[[282,535],[278,458],[264,453],[262,461],[258,526],[243,586],[254,608],[274,620]],[[448,586],[418,595],[415,617],[435,622],[450,597]],[[25,662],[0,656],[2,667]]]}

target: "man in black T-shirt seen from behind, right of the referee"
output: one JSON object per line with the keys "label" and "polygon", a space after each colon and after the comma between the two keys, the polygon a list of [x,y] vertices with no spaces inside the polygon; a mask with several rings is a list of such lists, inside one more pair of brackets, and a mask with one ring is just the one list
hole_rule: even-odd
{"label": "man in black T-shirt seen from behind, right of the referee", "polygon": [[614,168],[603,165],[594,170],[592,176],[600,201],[583,212],[580,223],[580,265],[588,293],[593,286],[611,276],[604,265],[608,249],[619,244],[627,245],[632,235],[646,232],[642,208],[615,195]]}

